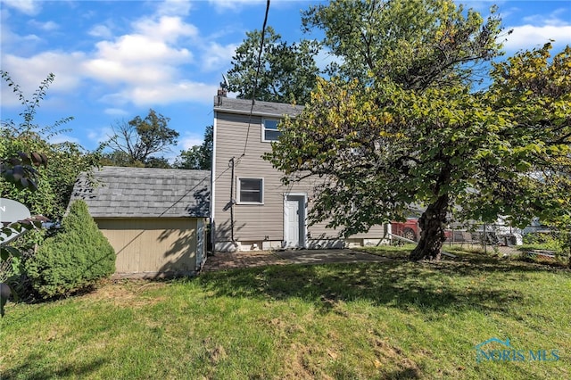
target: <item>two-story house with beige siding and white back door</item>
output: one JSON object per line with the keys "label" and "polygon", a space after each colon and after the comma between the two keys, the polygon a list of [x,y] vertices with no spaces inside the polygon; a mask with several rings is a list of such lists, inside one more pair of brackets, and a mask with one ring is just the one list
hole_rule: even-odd
{"label": "two-story house with beige siding and white back door", "polygon": [[279,248],[333,248],[377,244],[385,226],[340,239],[325,223],[308,226],[316,180],[282,185],[282,173],[261,156],[279,136],[284,115],[303,107],[214,97],[211,228],[215,252]]}

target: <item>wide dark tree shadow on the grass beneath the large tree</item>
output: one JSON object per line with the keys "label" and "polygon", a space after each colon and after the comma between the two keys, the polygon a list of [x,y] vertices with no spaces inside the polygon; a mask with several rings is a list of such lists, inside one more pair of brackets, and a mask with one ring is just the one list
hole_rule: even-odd
{"label": "wide dark tree shadow on the grass beneath the large tree", "polygon": [[[524,300],[528,284],[522,283],[521,290],[507,290],[503,281],[525,281],[525,272],[547,270],[481,259],[242,268],[205,273],[197,281],[217,296],[270,300],[297,297],[314,302],[323,312],[334,310],[336,302],[365,300],[402,310],[509,313],[514,302]],[[480,279],[491,277],[488,275],[492,272],[501,272],[501,279]],[[471,281],[476,284],[471,285]]]}

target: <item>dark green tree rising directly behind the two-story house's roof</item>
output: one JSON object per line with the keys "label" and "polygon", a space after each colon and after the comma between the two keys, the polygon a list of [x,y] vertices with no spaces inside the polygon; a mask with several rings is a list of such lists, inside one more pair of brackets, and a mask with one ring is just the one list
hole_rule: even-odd
{"label": "dark green tree rising directly behind the two-story house's roof", "polygon": [[246,33],[243,44],[237,47],[232,58],[233,67],[228,70],[228,90],[236,92],[239,99],[255,97],[267,102],[307,102],[319,76],[315,62],[319,43],[302,40],[289,45],[268,27],[258,70],[260,47],[261,31]]}

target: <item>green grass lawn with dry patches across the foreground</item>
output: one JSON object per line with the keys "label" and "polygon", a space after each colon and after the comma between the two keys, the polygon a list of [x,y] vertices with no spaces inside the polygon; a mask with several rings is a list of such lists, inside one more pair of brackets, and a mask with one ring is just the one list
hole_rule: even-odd
{"label": "green grass lawn with dry patches across the foreground", "polygon": [[[570,378],[570,308],[568,270],[473,253],[108,282],[9,303],[0,378]],[[476,362],[492,337],[560,359]]]}

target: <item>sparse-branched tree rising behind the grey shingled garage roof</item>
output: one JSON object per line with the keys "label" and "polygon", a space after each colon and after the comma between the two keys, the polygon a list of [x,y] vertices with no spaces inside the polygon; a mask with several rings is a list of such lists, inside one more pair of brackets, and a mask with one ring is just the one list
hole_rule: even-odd
{"label": "sparse-branched tree rising behind the grey shingled garage roof", "polygon": [[115,122],[113,135],[103,143],[104,148],[111,149],[104,154],[103,162],[118,166],[165,166],[168,162],[154,154],[167,152],[170,145],[177,144],[178,132],[169,128],[169,121],[151,109],[145,119],[137,116],[128,122]]}

